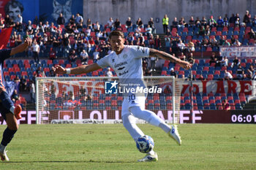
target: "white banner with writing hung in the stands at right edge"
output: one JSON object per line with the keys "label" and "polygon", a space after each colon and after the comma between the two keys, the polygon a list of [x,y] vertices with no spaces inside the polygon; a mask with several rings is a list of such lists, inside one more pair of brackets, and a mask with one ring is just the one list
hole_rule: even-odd
{"label": "white banner with writing hung in the stands at right edge", "polygon": [[256,47],[219,47],[219,52],[227,58],[255,58]]}

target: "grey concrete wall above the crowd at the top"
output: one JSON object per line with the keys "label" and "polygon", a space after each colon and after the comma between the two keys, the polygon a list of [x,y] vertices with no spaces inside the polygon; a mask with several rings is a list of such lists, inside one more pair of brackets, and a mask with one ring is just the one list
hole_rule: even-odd
{"label": "grey concrete wall above the crowd at the top", "polygon": [[[148,23],[149,18],[154,18],[157,33],[162,33],[162,18],[165,14],[169,17],[169,25],[174,17],[179,20],[181,17],[188,22],[190,16],[194,19],[203,16],[209,18],[214,15],[217,20],[219,15],[228,16],[236,12],[241,20],[244,18],[246,9],[253,16],[256,14],[255,0],[83,0],[83,16],[92,22],[106,24],[110,17],[113,20],[119,18],[125,23],[127,17],[132,18],[135,23],[138,18],[143,23]],[[157,23],[159,20],[159,23]]]}

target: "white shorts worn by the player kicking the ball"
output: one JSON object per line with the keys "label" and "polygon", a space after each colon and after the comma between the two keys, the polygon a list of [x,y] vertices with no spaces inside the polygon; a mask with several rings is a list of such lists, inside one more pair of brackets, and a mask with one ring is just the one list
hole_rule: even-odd
{"label": "white shorts worn by the player kicking the ball", "polygon": [[130,107],[140,107],[141,109],[145,109],[145,101],[146,96],[135,96],[135,94],[125,96],[121,108],[121,116],[129,113]]}

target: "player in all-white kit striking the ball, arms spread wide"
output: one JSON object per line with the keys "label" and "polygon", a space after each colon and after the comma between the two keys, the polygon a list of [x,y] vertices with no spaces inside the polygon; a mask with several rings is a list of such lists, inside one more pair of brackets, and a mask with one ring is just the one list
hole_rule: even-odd
{"label": "player in all-white kit striking the ball, arms spread wide", "polygon": [[[157,57],[178,63],[184,69],[190,69],[192,64],[187,61],[181,61],[168,53],[151,49],[148,47],[124,45],[124,33],[121,31],[112,31],[109,35],[110,46],[113,53],[99,59],[97,63],[88,66],[78,66],[72,69],[64,69],[61,66],[56,66],[57,74],[84,74],[93,72],[97,69],[112,67],[118,75],[119,81],[129,83],[139,83],[140,87],[145,87],[143,84],[143,69],[142,58]],[[179,145],[181,138],[178,134],[175,125],[167,125],[164,120],[159,118],[154,112],[145,109],[146,95],[138,93],[128,93],[124,96],[122,104],[121,117],[123,125],[129,131],[132,139],[137,141],[140,136],[144,136],[143,131],[135,124],[135,117],[146,120],[151,125],[162,128],[170,137],[172,137]],[[146,157],[138,161],[157,161],[157,152],[151,150],[146,154]]]}

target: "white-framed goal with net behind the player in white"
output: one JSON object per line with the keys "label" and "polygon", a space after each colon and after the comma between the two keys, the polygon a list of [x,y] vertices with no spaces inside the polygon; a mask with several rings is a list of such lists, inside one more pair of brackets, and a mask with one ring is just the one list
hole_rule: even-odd
{"label": "white-framed goal with net behind the player in white", "polygon": [[[121,123],[126,96],[118,85],[110,87],[115,80],[119,82],[118,77],[37,77],[37,123]],[[182,83],[166,76],[144,77],[144,82],[146,109],[179,123]]]}

